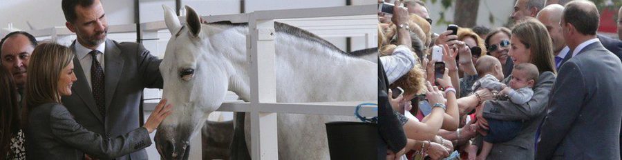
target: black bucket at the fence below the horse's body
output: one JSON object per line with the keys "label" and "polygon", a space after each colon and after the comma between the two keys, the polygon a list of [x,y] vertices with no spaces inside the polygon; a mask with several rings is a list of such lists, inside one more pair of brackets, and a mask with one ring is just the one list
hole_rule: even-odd
{"label": "black bucket at the fence below the horse's body", "polygon": [[326,123],[330,159],[377,159],[378,133],[374,123],[335,121]]}

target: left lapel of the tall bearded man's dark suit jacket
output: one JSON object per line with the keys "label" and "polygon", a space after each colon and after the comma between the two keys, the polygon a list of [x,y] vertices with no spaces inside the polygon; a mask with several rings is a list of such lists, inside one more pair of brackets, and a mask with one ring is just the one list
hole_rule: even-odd
{"label": "left lapel of the tall bearded man's dark suit jacket", "polygon": [[[73,41],[70,48],[75,52],[75,41]],[[73,66],[73,72],[75,72],[75,76],[77,77],[77,81],[73,83],[73,87],[71,88],[73,94],[77,94],[77,97],[80,97],[80,99],[86,103],[86,106],[95,114],[95,117],[104,123],[104,117],[100,114],[100,110],[97,110],[93,92],[91,92],[91,88],[88,86],[86,75],[84,75],[84,70],[82,70],[82,65],[77,56],[73,57]]]}

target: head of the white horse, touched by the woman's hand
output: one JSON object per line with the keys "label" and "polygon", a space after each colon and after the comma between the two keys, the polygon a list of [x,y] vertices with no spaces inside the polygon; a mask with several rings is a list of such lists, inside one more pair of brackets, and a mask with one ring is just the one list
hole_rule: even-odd
{"label": "head of the white horse, touched by the woman's hand", "polygon": [[227,73],[218,65],[198,14],[186,6],[187,23],[182,26],[175,12],[164,8],[171,32],[160,72],[164,79],[162,98],[173,104],[173,113],[156,132],[156,148],[162,159],[187,159],[189,140],[200,130],[210,112],[225,99]]}

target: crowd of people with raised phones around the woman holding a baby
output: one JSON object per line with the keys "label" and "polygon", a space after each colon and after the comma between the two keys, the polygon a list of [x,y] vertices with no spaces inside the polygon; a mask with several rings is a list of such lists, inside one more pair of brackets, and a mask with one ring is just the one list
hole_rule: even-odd
{"label": "crowd of people with raised phones around the woman holding a baby", "polygon": [[424,2],[378,3],[395,5],[378,12],[378,159],[621,158],[622,41],[592,1],[518,0],[510,28],[439,34]]}

